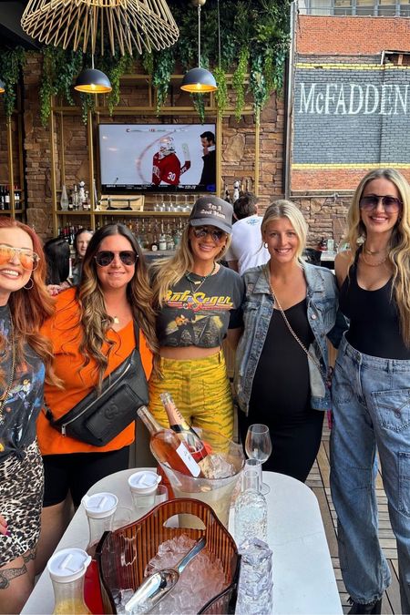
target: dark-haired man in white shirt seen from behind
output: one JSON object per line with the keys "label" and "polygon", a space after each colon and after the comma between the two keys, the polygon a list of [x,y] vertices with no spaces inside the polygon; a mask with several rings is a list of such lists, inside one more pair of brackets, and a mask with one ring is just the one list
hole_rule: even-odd
{"label": "dark-haired man in white shirt seen from behind", "polygon": [[232,227],[231,246],[225,260],[231,269],[240,274],[264,264],[270,258],[261,240],[262,219],[258,216],[257,203],[251,192],[245,192],[233,203],[233,216],[237,221]]}

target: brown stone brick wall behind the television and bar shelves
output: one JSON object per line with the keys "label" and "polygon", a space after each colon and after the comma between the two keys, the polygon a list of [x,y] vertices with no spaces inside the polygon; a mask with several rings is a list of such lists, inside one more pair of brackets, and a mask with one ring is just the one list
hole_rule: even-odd
{"label": "brown stone brick wall behind the television and bar shelves", "polygon": [[[24,148],[26,155],[27,221],[43,237],[52,235],[51,211],[51,158],[50,132],[43,128],[39,116],[38,89],[41,74],[41,56],[30,54],[24,70]],[[176,93],[176,100],[186,96]],[[121,87],[122,106],[137,106],[148,102],[146,93],[140,87],[125,85]],[[182,100],[179,100],[181,104]],[[187,101],[188,102],[188,101]],[[206,118],[214,121],[215,118]],[[56,114],[56,187],[61,187],[60,177],[60,118]],[[108,119],[109,121],[109,119]],[[114,117],[112,121],[154,123],[160,119],[137,116]],[[164,121],[172,122],[167,117]],[[198,118],[178,117],[178,121],[198,121]],[[3,126],[3,118],[0,116]],[[63,118],[64,157],[66,166],[66,184],[70,187],[80,179],[88,179],[87,128],[79,115],[65,114]],[[272,200],[282,197],[282,159],[283,159],[283,125],[284,107],[282,98],[272,96],[269,104],[261,113],[260,139],[260,190],[262,209]],[[223,119],[222,138],[222,181],[232,190],[235,179],[254,178],[255,126],[253,116],[244,116],[240,122],[235,118]],[[0,137],[0,161],[5,154],[5,137],[3,130]],[[95,135],[97,143],[97,132]],[[96,158],[97,165],[97,158]],[[251,182],[252,186],[252,182]],[[89,188],[87,186],[87,188]],[[77,220],[76,220],[77,221]]]}

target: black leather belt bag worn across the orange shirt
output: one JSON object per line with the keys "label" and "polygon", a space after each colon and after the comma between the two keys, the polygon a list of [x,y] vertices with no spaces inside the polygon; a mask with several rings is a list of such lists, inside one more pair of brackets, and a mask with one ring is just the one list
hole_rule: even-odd
{"label": "black leather belt bag worn across the orange shirt", "polygon": [[62,436],[94,446],[105,446],[138,418],[149,401],[148,384],[138,348],[103,380],[100,395],[92,391],[66,415],[55,419],[44,405],[46,418]]}

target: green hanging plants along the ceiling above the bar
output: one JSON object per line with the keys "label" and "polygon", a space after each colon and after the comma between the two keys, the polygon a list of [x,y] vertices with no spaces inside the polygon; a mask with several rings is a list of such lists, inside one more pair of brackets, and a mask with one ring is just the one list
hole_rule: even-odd
{"label": "green hanging plants along the ceiling above the bar", "polygon": [[[219,6],[220,3],[220,6]],[[259,118],[261,108],[272,90],[282,88],[284,61],[289,46],[290,0],[207,0],[201,9],[200,58],[198,57],[198,12],[195,7],[180,0],[169,0],[169,9],[179,26],[179,40],[167,49],[144,52],[141,62],[152,79],[157,93],[157,113],[167,101],[170,77],[175,67],[187,71],[200,66],[210,69],[216,77],[219,89],[215,94],[218,113],[221,116],[228,104],[227,73],[233,73],[232,87],[236,93],[235,116],[241,118],[245,96],[249,89],[253,97],[255,114]],[[220,8],[220,45],[218,9]],[[15,53],[15,52],[14,52]],[[23,52],[21,52],[23,54]],[[73,104],[72,84],[84,67],[90,66],[90,56],[81,52],[64,51],[58,47],[43,49],[43,77],[40,88],[41,118],[47,121],[50,113],[50,97],[60,95],[68,104]],[[21,59],[19,60],[18,57]],[[0,77],[17,79],[18,62],[23,55],[14,58],[17,62],[14,77],[7,77],[15,64],[4,60],[0,53]],[[3,58],[3,59],[2,59]],[[106,72],[113,87],[106,97],[108,111],[112,114],[119,102],[120,77],[130,72],[136,58],[120,56],[116,51],[111,56],[107,49],[104,56],[96,56],[97,67]],[[249,88],[245,77],[250,74]],[[17,77],[15,77],[17,75]],[[14,81],[15,83],[15,81]],[[89,97],[81,97],[83,117],[87,108],[95,106]],[[206,95],[192,97],[200,118],[205,116]],[[8,108],[14,105],[10,100]]]}

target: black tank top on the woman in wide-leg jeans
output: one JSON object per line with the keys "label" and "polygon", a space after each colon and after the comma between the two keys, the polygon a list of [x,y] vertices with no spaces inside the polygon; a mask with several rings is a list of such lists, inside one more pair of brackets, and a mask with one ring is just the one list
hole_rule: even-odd
{"label": "black tank top on the woman in wide-leg jeans", "polygon": [[360,353],[384,359],[410,359],[400,333],[400,321],[392,297],[392,280],[376,291],[365,291],[357,283],[357,259],[343,282],[339,305],[350,319],[346,340]]}

